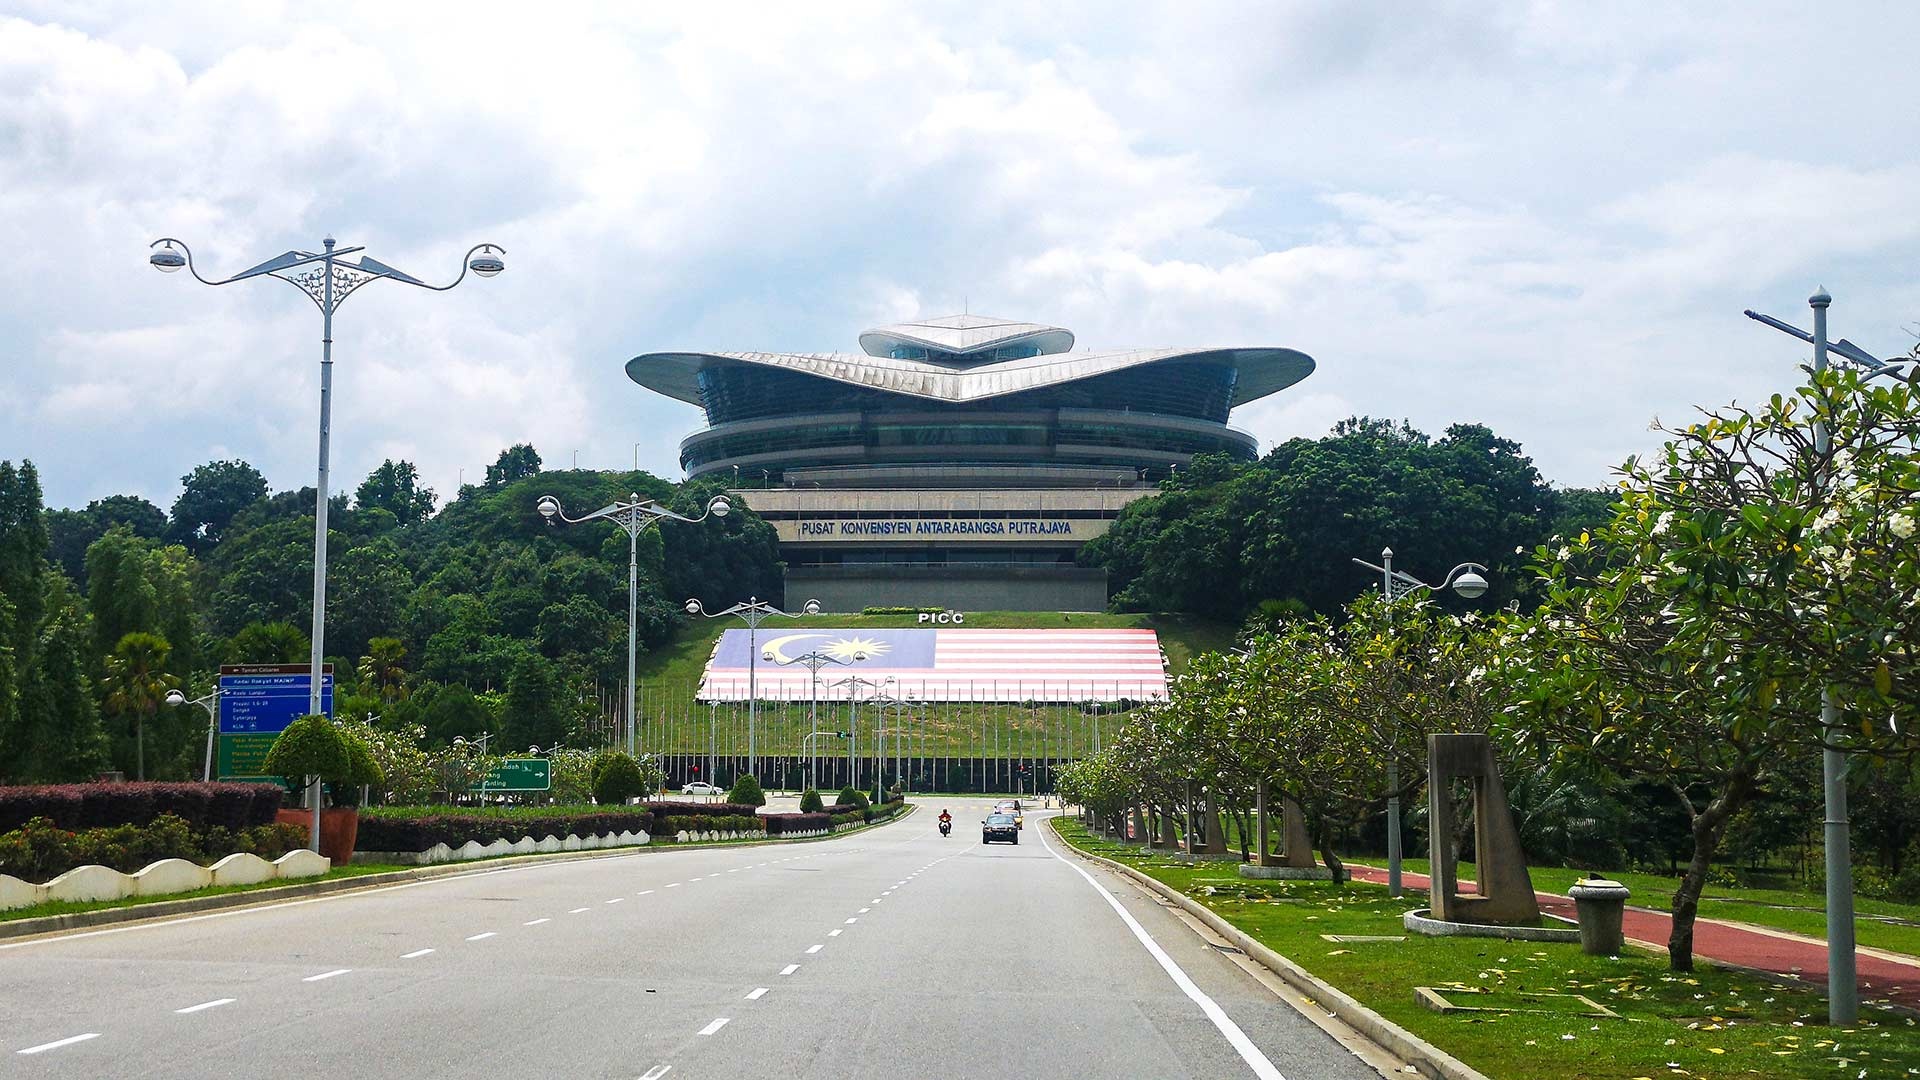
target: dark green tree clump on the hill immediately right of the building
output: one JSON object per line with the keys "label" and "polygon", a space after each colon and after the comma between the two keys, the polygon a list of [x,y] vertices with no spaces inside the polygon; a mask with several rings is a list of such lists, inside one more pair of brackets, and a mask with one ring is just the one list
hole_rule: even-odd
{"label": "dark green tree clump on the hill immediately right of the building", "polygon": [[[1192,611],[1244,619],[1265,600],[1332,615],[1371,571],[1350,559],[1398,553],[1398,567],[1438,580],[1465,561],[1517,567],[1555,528],[1603,511],[1597,492],[1546,484],[1517,442],[1478,425],[1428,438],[1405,425],[1342,421],[1327,438],[1292,438],[1254,463],[1198,457],[1162,496],[1121,511],[1081,561],[1112,573],[1121,611]],[[1490,575],[1482,600],[1515,596],[1517,575]]]}

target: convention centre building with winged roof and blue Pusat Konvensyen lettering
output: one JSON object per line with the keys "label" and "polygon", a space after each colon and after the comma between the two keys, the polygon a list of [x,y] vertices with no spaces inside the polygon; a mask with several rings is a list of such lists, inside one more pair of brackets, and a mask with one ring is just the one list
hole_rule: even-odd
{"label": "convention centre building with winged roof and blue Pusat Konvensyen lettering", "polygon": [[828,611],[1102,611],[1079,548],[1196,454],[1256,457],[1229,413],[1313,371],[1288,348],[1075,352],[1071,331],[987,315],[858,342],[626,363],[707,411],[682,467],[772,523],[787,600]]}

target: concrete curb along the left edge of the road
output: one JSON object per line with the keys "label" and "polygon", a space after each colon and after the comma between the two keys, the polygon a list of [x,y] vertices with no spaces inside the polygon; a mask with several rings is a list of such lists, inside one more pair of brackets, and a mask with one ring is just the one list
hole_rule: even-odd
{"label": "concrete curb along the left edge of the road", "polygon": [[326,896],[334,892],[374,890],[374,888],[409,884],[428,878],[484,874],[490,871],[497,871],[501,867],[520,867],[526,863],[580,863],[586,859],[637,859],[662,851],[703,851],[710,847],[766,847],[772,844],[818,844],[822,840],[839,840],[841,836],[852,836],[854,832],[864,832],[868,828],[879,828],[885,824],[893,824],[897,821],[904,821],[916,809],[918,809],[916,803],[906,803],[906,809],[889,817],[887,821],[860,824],[845,832],[835,832],[831,836],[806,836],[799,840],[724,840],[714,844],[666,844],[659,847],[655,846],[616,847],[611,851],[553,851],[540,855],[507,855],[501,859],[478,859],[472,863],[438,863],[432,867],[411,867],[405,871],[359,874],[351,878],[328,878],[321,882],[305,882],[296,886],[257,888],[248,892],[228,892],[221,896],[196,896],[190,899],[163,899],[156,903],[132,903],[127,907],[102,907],[100,911],[42,915],[38,919],[15,919],[12,922],[0,922],[0,942],[10,938],[33,938],[38,934],[60,934],[65,930],[88,930],[92,926],[111,926],[115,922],[138,922],[144,919],[171,919],[175,915],[198,915],[202,911],[221,911],[227,907],[253,907],[253,905],[278,903],[286,899],[307,899],[313,896]]}

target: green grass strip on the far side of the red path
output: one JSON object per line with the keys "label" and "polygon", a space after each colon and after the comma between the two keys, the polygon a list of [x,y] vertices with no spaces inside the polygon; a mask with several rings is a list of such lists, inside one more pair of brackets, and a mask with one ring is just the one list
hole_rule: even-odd
{"label": "green grass strip on the far side of the red path", "polygon": [[[1356,855],[1354,859],[1373,867],[1386,865],[1384,857]],[[1404,859],[1402,865],[1415,874],[1427,872],[1427,859]],[[1473,867],[1463,865],[1461,874],[1471,876]],[[1563,867],[1530,867],[1528,874],[1532,874],[1536,890],[1565,894],[1567,888],[1572,886],[1574,878],[1584,872]],[[1651,907],[1655,911],[1668,911],[1672,907],[1674,890],[1680,888],[1680,878],[1668,878],[1665,874],[1607,871],[1607,876],[1634,892],[1628,903],[1634,907]],[[1826,894],[1811,890],[1732,888],[1709,884],[1699,901],[1699,915],[1701,919],[1751,922],[1755,926],[1768,926],[1789,934],[1826,938]],[[1889,953],[1920,957],[1920,903],[1857,897],[1855,915],[1853,934],[1859,944],[1872,949],[1885,949]],[[1903,922],[1889,922],[1887,919],[1899,919]]]}

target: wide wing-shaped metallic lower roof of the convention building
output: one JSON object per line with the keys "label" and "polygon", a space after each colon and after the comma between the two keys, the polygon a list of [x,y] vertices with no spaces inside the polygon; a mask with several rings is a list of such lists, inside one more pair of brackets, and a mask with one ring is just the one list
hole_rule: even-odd
{"label": "wide wing-shaped metallic lower roof of the convention building", "polygon": [[[1021,325],[1035,327],[1033,323]],[[1048,327],[1039,329],[1048,331]],[[693,405],[703,404],[699,371],[714,363],[778,367],[851,386],[906,394],[929,402],[960,404],[1077,382],[1167,359],[1219,359],[1233,363],[1238,369],[1233,405],[1244,405],[1284,390],[1313,373],[1313,357],[1290,348],[1135,348],[1043,354],[964,369],[922,359],[847,352],[649,352],[626,361],[626,377],[649,390]]]}

